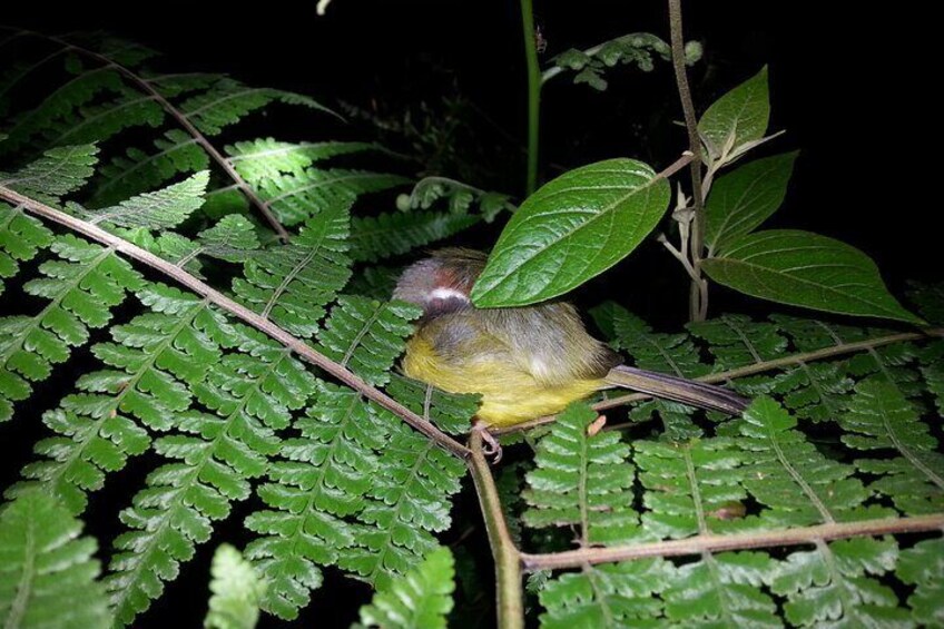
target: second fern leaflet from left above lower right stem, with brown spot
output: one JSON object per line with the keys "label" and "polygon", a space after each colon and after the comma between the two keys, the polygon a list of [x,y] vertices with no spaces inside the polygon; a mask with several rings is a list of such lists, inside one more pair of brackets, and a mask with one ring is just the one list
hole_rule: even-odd
{"label": "second fern leaflet from left above lower right stem, with brown spot", "polygon": [[743,452],[725,438],[687,444],[637,441],[633,461],[646,488],[642,525],[658,538],[684,538],[735,528],[731,512],[747,492],[740,484]]}

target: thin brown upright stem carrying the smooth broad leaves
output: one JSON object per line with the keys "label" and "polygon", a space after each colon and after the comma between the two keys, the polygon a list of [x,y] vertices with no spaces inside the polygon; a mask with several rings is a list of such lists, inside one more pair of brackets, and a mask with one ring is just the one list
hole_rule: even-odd
{"label": "thin brown upright stem carrying the smooth broad leaves", "polygon": [[676,72],[681,110],[685,115],[685,128],[688,131],[688,148],[695,156],[691,161],[692,219],[689,257],[695,269],[688,299],[688,317],[691,321],[705,321],[708,315],[708,284],[701,277],[701,255],[705,248],[705,197],[701,189],[701,138],[698,136],[698,120],[695,118],[695,104],[688,87],[685,71],[685,39],[681,28],[681,0],[669,0],[669,31],[672,47],[672,68]]}

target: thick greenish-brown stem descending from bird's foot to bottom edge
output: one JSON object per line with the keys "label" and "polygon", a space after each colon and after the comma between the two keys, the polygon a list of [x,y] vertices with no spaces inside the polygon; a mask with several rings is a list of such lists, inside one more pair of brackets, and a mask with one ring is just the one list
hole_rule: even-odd
{"label": "thick greenish-brown stem descending from bird's foot to bottom edge", "polygon": [[475,483],[489,544],[495,560],[495,589],[498,626],[500,629],[522,629],[524,627],[524,606],[521,596],[521,551],[514,546],[508,532],[499,490],[492,478],[492,470],[482,452],[482,433],[472,431],[469,438],[472,454],[466,459],[469,471]]}

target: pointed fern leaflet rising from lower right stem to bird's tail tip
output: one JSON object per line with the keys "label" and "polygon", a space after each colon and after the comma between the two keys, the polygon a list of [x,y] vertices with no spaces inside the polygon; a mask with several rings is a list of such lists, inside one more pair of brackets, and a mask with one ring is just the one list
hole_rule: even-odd
{"label": "pointed fern leaflet rising from lower right stem to bird's tail tip", "polygon": [[744,487],[768,508],[765,522],[805,525],[885,514],[863,505],[869,492],[855,468],[819,453],[774,400],[756,399],[734,426],[746,452]]}

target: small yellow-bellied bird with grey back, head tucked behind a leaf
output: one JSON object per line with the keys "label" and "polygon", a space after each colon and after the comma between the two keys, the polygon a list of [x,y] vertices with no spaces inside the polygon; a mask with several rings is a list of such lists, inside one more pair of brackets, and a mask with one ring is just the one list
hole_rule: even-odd
{"label": "small yellow-bellied bird with grey back, head tucked behind a leaf", "polygon": [[587,333],[573,305],[476,308],[469,297],[486,256],[445,248],[407,267],[394,298],[423,308],[403,372],[452,393],[480,393],[476,417],[511,426],[621,386],[729,414],[747,400],[721,386],[638,370]]}

